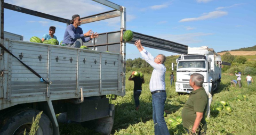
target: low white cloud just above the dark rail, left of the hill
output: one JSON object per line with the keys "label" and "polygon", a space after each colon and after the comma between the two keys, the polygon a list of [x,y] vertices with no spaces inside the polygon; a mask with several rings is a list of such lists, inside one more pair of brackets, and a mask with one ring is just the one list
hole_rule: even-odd
{"label": "low white cloud just above the dark rail, left of the hill", "polygon": [[160,37],[166,40],[174,41],[180,44],[193,44],[201,43],[203,40],[198,39],[198,37],[213,35],[213,33],[186,33],[182,35],[161,35]]}

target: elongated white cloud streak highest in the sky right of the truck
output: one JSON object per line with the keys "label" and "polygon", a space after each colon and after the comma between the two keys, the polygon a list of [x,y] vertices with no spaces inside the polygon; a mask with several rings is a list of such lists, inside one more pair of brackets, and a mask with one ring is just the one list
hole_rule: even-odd
{"label": "elongated white cloud streak highest in the sky right of the truck", "polygon": [[198,18],[185,18],[185,19],[180,20],[179,22],[190,22],[190,21],[214,19],[214,18],[220,18],[221,16],[224,16],[227,14],[228,14],[228,12],[225,12],[225,11],[213,11],[213,12],[209,12],[205,15],[199,16]]}

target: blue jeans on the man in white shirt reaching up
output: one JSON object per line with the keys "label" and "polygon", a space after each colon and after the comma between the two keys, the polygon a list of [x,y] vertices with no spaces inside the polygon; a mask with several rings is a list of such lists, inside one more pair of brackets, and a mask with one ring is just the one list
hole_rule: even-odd
{"label": "blue jeans on the man in white shirt reaching up", "polygon": [[166,100],[166,92],[159,92],[152,95],[152,105],[153,105],[153,120],[155,135],[170,134],[166,122],[164,120],[164,103]]}

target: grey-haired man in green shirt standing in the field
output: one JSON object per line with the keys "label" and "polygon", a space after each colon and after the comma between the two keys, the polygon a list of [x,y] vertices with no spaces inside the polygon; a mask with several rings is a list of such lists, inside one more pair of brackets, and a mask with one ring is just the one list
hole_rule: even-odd
{"label": "grey-haired man in green shirt standing in the field", "polygon": [[193,88],[190,92],[186,105],[182,110],[183,127],[188,133],[205,134],[207,129],[205,112],[208,96],[203,87],[204,76],[199,73],[190,75],[189,85]]}

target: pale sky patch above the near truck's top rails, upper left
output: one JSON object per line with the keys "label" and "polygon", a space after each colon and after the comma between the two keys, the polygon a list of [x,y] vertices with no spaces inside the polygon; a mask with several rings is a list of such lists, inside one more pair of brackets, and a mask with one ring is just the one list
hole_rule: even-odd
{"label": "pale sky patch above the near truck's top rails, upper left", "polygon": [[62,0],[61,2],[51,0],[6,0],[5,2],[65,19],[71,19],[74,14],[85,17],[108,11],[106,6],[90,0]]}

